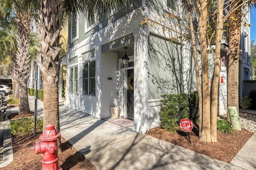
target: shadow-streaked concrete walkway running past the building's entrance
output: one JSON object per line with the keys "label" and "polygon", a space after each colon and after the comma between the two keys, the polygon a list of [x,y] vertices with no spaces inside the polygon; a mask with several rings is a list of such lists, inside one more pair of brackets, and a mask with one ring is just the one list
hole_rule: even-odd
{"label": "shadow-streaked concrete walkway running past the building's entrance", "polygon": [[[42,117],[42,111],[38,115]],[[60,106],[60,129],[98,170],[256,170],[255,133],[227,164],[65,106]]]}

